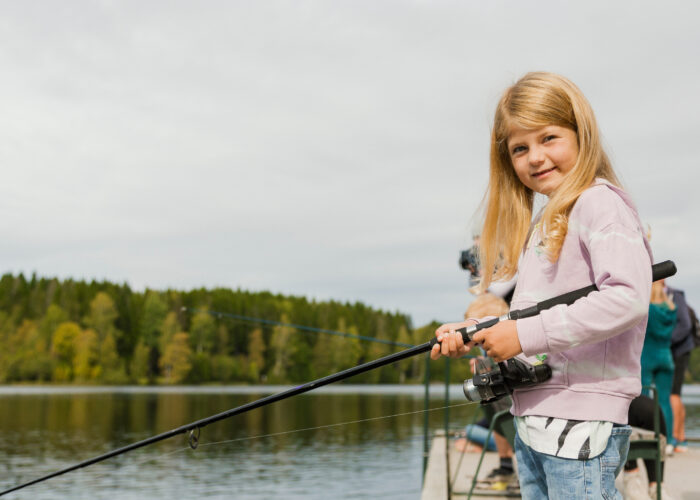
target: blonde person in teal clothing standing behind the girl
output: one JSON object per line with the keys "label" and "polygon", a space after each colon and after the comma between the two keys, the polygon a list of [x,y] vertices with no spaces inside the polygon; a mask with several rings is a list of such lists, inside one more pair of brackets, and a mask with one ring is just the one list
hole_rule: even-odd
{"label": "blonde person in teal clothing standing behind the girl", "polygon": [[676,306],[666,293],[663,280],[656,281],[651,287],[649,322],[642,349],[642,386],[656,385],[667,436],[673,436],[671,387],[674,365],[671,334],[675,326]]}

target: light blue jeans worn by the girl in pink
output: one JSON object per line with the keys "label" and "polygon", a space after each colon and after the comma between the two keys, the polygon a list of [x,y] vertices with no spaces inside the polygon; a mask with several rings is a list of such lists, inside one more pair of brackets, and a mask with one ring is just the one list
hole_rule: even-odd
{"label": "light blue jeans worn by the girl in pink", "polygon": [[524,500],[622,500],[615,478],[629,451],[629,425],[615,425],[603,453],[588,460],[539,453],[515,436],[520,493]]}

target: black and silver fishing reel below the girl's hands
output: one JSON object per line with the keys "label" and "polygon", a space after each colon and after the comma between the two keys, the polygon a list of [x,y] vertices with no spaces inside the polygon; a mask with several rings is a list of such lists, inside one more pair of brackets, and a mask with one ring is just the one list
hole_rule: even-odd
{"label": "black and silver fishing reel below the girl's hands", "polygon": [[515,389],[549,380],[552,369],[544,363],[531,365],[517,358],[498,363],[481,373],[484,365],[477,360],[476,375],[464,381],[464,395],[475,403],[491,403],[512,394]]}

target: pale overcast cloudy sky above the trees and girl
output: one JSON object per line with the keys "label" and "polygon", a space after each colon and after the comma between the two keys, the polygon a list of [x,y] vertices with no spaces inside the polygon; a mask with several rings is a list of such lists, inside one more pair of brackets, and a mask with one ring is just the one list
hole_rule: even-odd
{"label": "pale overcast cloudy sky above the trees and girl", "polygon": [[700,4],[0,3],[0,271],[461,316],[503,89],[591,101],[700,307]]}

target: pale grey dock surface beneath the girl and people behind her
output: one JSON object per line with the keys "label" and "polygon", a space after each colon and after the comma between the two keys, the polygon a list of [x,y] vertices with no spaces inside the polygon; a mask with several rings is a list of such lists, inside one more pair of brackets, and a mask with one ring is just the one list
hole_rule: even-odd
{"label": "pale grey dock surface beneath the girl and people behind her", "polygon": [[[449,453],[445,453],[445,439],[443,431],[438,431],[433,437],[428,468],[423,481],[421,500],[467,498],[474,477],[473,471],[476,470],[480,454],[462,454],[455,449],[452,442],[449,443]],[[450,470],[449,478],[450,481],[453,482],[451,486],[448,486],[448,462]],[[497,454],[495,452],[487,452],[484,456],[481,470],[479,471],[479,479],[485,478],[486,475],[497,466]],[[646,478],[645,474],[642,474],[642,476]],[[617,484],[618,489],[622,491],[621,477],[618,477]],[[673,500],[700,500],[700,447],[693,447],[687,452],[676,453],[666,458],[664,489]],[[499,496],[498,492],[475,490],[472,498],[513,498],[512,492],[507,492],[506,494],[508,496]]]}

